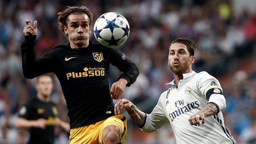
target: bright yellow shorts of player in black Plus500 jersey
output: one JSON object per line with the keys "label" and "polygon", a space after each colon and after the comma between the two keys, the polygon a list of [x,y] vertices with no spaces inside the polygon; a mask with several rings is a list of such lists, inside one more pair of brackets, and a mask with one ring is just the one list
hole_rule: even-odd
{"label": "bright yellow shorts of player in black Plus500 jersey", "polygon": [[95,124],[77,127],[70,130],[70,144],[103,144],[102,130],[109,125],[115,125],[120,130],[120,141],[125,142],[127,136],[127,120],[122,114],[111,116]]}

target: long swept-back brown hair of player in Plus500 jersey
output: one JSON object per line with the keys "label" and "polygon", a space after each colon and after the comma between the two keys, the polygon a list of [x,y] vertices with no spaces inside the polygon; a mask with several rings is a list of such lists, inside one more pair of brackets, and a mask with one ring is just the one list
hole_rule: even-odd
{"label": "long swept-back brown hair of player in Plus500 jersey", "polygon": [[59,19],[59,30],[68,38],[68,35],[65,34],[64,26],[67,27],[67,21],[69,15],[80,15],[80,14],[86,14],[90,21],[89,25],[91,25],[91,22],[93,21],[93,13],[86,7],[86,6],[68,6],[68,8],[62,12],[58,12],[58,19]]}

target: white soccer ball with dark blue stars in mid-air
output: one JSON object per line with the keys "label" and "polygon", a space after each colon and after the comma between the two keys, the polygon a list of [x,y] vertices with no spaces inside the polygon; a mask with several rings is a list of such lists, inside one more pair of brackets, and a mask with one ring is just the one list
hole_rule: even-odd
{"label": "white soccer ball with dark blue stars in mid-air", "polygon": [[109,12],[101,15],[94,24],[94,36],[106,47],[115,48],[125,43],[130,33],[126,18],[118,13]]}

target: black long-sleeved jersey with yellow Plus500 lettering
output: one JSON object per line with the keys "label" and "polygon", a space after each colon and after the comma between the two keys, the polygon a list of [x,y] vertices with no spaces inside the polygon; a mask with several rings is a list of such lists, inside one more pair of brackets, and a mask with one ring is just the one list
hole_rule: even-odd
{"label": "black long-sleeved jersey with yellow Plus500 lettering", "polygon": [[22,44],[23,73],[34,78],[54,72],[66,99],[70,128],[99,122],[114,115],[108,70],[110,63],[124,73],[120,78],[130,86],[139,75],[138,68],[117,48],[89,41],[86,48],[59,45],[43,58],[35,60],[35,37],[25,36]]}

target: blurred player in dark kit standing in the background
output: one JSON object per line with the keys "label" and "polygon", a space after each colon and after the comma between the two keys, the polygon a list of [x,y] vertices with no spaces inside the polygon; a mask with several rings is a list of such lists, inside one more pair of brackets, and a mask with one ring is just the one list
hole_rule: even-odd
{"label": "blurred player in dark kit standing in the background", "polygon": [[28,100],[19,110],[16,127],[29,129],[28,144],[54,144],[55,126],[60,126],[67,132],[70,126],[56,117],[58,114],[56,105],[50,101],[53,90],[52,77],[39,76],[35,89],[37,96]]}

